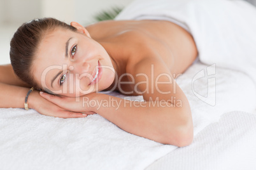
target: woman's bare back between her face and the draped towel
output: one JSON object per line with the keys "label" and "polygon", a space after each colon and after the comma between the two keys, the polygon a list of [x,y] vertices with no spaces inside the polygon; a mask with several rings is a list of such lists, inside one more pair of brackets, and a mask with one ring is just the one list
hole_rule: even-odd
{"label": "woman's bare back between her face and the draped towel", "polygon": [[[193,37],[185,29],[167,21],[110,20],[89,25],[86,29],[90,32],[92,39],[103,45],[116,61],[119,68],[118,76],[125,73],[135,76],[134,67],[142,61],[158,63],[174,76],[179,75],[194,62],[197,56]],[[124,76],[122,81],[127,82],[131,79]],[[108,89],[111,88],[113,87]],[[131,89],[134,89],[132,84],[122,85],[123,91]],[[117,90],[120,91],[118,88]]]}

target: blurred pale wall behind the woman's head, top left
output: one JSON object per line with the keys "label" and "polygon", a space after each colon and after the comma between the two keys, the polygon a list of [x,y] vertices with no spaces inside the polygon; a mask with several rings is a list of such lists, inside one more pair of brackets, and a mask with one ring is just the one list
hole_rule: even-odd
{"label": "blurred pale wall behind the woman's head, top left", "polygon": [[10,40],[24,22],[53,17],[66,23],[88,25],[94,16],[113,7],[124,8],[132,0],[0,0],[0,65],[10,63]]}

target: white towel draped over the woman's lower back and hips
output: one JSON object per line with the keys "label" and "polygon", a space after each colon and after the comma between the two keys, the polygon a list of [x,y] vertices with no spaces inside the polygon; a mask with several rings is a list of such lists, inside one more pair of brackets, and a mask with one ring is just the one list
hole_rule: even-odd
{"label": "white towel draped over the woman's lower back and hips", "polygon": [[241,0],[136,0],[116,20],[166,18],[187,29],[201,62],[241,70],[256,83],[256,8]]}

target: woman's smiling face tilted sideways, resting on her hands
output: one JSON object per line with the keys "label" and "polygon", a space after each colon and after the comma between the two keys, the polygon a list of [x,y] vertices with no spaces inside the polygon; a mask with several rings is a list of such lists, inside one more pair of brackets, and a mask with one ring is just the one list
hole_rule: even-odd
{"label": "woman's smiling face tilted sideways, resting on her hands", "polygon": [[32,75],[45,91],[75,97],[108,88],[115,70],[106,50],[83,27],[78,32],[56,28],[40,42]]}

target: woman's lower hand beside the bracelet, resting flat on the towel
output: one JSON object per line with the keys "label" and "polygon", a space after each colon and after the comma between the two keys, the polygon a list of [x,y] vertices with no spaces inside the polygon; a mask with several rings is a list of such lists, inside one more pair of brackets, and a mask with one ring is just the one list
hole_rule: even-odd
{"label": "woman's lower hand beside the bracelet, resting flat on the towel", "polygon": [[61,118],[87,117],[88,115],[85,112],[76,112],[75,110],[59,107],[58,105],[55,105],[55,103],[41,97],[39,91],[36,90],[32,91],[31,95],[29,95],[28,103],[30,108],[33,108],[39,112],[39,114],[43,115]]}

